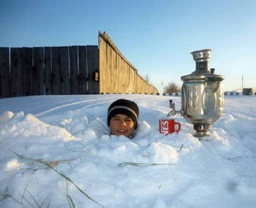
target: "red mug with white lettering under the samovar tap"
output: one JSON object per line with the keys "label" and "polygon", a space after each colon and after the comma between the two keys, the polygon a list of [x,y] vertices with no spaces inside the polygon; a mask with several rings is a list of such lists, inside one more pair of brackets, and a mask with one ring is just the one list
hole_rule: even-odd
{"label": "red mug with white lettering under the samovar tap", "polygon": [[[178,125],[178,129],[175,130],[175,126]],[[174,132],[180,131],[180,123],[175,122],[174,119],[159,119],[159,132],[165,136]]]}

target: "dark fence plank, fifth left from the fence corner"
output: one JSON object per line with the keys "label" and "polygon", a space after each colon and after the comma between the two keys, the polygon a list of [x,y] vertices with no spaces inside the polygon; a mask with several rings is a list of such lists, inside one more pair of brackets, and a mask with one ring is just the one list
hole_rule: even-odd
{"label": "dark fence plank, fifth left from the fence corner", "polygon": [[52,94],[61,95],[59,47],[52,47]]}

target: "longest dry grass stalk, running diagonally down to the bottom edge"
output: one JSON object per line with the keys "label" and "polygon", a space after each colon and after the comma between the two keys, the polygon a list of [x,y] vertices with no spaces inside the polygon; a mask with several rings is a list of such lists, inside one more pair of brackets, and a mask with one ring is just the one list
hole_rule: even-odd
{"label": "longest dry grass stalk, running diagonally down to the bottom edge", "polygon": [[[12,153],[14,153],[12,151]],[[94,199],[92,199],[88,194],[86,194],[81,188],[79,188],[70,178],[68,178],[68,176],[64,175],[62,172],[56,170],[55,168],[53,168],[49,162],[45,162],[41,159],[33,159],[33,158],[28,158],[28,157],[25,157],[23,155],[18,155],[17,153],[14,153],[15,155],[19,156],[20,158],[23,158],[23,159],[27,159],[27,160],[32,160],[32,161],[35,161],[35,162],[40,162],[42,164],[45,164],[46,166],[48,166],[49,168],[51,168],[52,170],[54,170],[56,173],[60,174],[60,176],[62,176],[63,178],[66,178],[66,180],[68,180],[69,182],[71,182],[82,194],[84,194],[84,196],[86,196],[88,199],[90,199],[91,201],[93,201],[94,203],[100,205],[101,207],[104,208],[104,206],[98,202],[96,202]],[[62,160],[62,161],[67,161],[67,160]]]}

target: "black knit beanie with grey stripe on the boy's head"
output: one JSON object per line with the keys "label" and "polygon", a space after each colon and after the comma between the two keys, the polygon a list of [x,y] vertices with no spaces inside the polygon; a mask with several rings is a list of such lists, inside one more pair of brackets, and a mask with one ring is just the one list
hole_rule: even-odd
{"label": "black knit beanie with grey stripe on the boy's head", "polygon": [[134,130],[138,127],[139,108],[136,103],[126,99],[114,101],[108,107],[108,127],[110,120],[117,114],[127,115],[134,122]]}

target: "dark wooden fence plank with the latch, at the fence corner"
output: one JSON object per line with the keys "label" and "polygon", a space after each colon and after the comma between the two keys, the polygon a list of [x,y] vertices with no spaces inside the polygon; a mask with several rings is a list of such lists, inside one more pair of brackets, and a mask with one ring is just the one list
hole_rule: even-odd
{"label": "dark wooden fence plank with the latch, at the fence corner", "polygon": [[88,94],[99,94],[99,81],[95,80],[95,74],[99,73],[98,46],[86,46]]}

